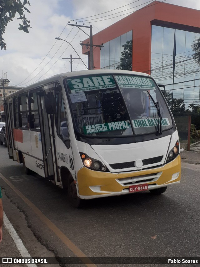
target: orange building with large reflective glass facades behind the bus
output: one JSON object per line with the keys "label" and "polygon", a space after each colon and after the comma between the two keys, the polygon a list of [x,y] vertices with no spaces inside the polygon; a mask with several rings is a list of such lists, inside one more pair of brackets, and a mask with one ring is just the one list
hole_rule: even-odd
{"label": "orange building with large reflective glass facades behind the bus", "polygon": [[[200,11],[154,1],[93,35],[95,69],[151,74],[174,98],[200,103],[200,67],[191,45],[200,38]],[[88,42],[84,40],[83,43]],[[83,54],[88,50],[83,46]]]}

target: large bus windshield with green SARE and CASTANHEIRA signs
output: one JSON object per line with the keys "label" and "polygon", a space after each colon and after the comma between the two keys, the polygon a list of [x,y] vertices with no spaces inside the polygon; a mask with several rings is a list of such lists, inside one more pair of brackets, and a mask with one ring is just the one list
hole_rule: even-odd
{"label": "large bus windshield with green SARE and CASTANHEIRA signs", "polygon": [[130,136],[172,127],[172,118],[149,76],[96,74],[65,80],[74,121],[87,136]]}

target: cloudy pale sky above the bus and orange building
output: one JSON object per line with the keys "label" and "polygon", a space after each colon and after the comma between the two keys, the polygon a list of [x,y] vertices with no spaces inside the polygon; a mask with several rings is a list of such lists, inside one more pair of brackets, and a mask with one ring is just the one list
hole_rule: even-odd
{"label": "cloudy pale sky above the bus and orange building", "polygon": [[[62,58],[69,58],[70,54],[72,54],[73,58],[76,58],[78,55],[66,42],[56,40],[55,37],[58,36],[62,39],[67,38],[66,40],[73,45],[79,57],[88,65],[87,56],[82,55],[81,45],[79,44],[80,40],[87,39],[88,36],[77,27],[68,26],[68,21],[73,24],[79,21],[77,19],[81,18],[78,24],[82,25],[83,22],[81,21],[87,20],[85,25],[89,26],[88,22],[91,22],[93,34],[95,34],[127,16],[126,13],[138,10],[153,1],[29,0],[29,2],[31,6],[26,5],[26,7],[31,14],[25,13],[32,27],[29,33],[18,30],[20,21],[16,19],[16,16],[13,22],[8,23],[6,33],[3,35],[7,50],[0,50],[0,76],[1,78],[7,77],[10,80],[9,85],[26,86],[54,74],[70,71],[70,62]],[[199,0],[166,0],[164,2],[200,9]],[[119,8],[122,6],[125,7]],[[95,16],[110,10],[113,11]],[[120,13],[112,15],[117,12]],[[126,15],[111,18],[121,14]],[[96,19],[98,22],[95,22],[94,18],[106,15],[110,16],[102,19],[109,19],[103,21]],[[85,18],[88,16],[93,17]],[[88,28],[83,28],[83,30],[89,34]],[[73,71],[83,69],[86,68],[80,59],[73,61]]]}

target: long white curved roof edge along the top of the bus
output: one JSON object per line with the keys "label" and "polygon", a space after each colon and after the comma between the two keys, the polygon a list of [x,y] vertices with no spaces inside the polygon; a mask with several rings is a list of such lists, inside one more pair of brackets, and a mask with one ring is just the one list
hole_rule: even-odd
{"label": "long white curved roof edge along the top of the bus", "polygon": [[43,85],[58,81],[58,80],[63,80],[65,78],[71,78],[74,76],[80,76],[80,75],[92,75],[92,74],[132,74],[132,75],[141,75],[141,76],[148,76],[151,77],[147,73],[143,72],[137,72],[137,71],[130,71],[130,70],[118,70],[118,69],[91,69],[91,70],[78,70],[78,71],[73,71],[73,72],[64,72],[60,74],[53,75],[47,79],[38,81],[36,83],[33,83],[31,85],[25,86],[20,90],[17,90],[16,92],[7,95],[5,99],[12,98],[15,95],[22,94],[23,92],[27,92],[32,89],[36,89],[39,87],[42,87]]}

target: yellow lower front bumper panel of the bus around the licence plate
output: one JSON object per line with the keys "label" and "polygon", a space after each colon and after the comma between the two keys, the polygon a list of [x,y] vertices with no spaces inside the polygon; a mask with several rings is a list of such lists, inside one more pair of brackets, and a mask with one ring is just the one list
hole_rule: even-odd
{"label": "yellow lower front bumper panel of the bus around the licence plate", "polygon": [[80,198],[99,198],[129,193],[131,185],[148,183],[148,189],[156,189],[180,182],[181,157],[158,167],[133,172],[99,172],[86,167],[77,173]]}

